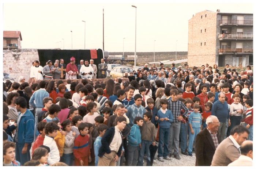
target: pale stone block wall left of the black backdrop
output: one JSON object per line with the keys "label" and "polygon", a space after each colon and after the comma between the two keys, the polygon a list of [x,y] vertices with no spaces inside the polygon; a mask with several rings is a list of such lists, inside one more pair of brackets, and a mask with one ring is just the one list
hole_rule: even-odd
{"label": "pale stone block wall left of the black backdrop", "polygon": [[32,62],[38,59],[37,49],[3,50],[3,73],[15,77],[15,81],[18,81],[20,76],[24,76],[28,81]]}

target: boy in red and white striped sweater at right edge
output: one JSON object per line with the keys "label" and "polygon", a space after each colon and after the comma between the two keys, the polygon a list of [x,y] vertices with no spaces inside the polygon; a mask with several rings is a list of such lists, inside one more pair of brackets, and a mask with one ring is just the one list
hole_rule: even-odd
{"label": "boy in red and white striped sweater at right edge", "polygon": [[245,127],[249,129],[250,134],[248,139],[252,141],[253,139],[253,101],[252,99],[247,99],[245,101],[245,106],[247,108],[246,117],[245,117]]}

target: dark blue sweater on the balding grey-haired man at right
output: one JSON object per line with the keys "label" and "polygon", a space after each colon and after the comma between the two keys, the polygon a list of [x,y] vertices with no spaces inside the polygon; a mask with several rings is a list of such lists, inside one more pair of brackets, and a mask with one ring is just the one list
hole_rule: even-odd
{"label": "dark blue sweater on the balding grey-haired man at right", "polygon": [[226,119],[230,118],[227,102],[221,103],[218,100],[212,104],[211,115],[217,116],[219,122],[226,123]]}

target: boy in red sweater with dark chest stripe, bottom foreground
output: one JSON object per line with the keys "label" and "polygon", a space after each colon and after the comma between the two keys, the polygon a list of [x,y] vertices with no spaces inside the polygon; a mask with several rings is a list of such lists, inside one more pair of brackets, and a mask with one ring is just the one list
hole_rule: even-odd
{"label": "boy in red sweater with dark chest stripe, bottom foreground", "polygon": [[75,166],[88,166],[88,162],[91,162],[88,128],[86,123],[80,123],[78,126],[80,135],[74,141]]}

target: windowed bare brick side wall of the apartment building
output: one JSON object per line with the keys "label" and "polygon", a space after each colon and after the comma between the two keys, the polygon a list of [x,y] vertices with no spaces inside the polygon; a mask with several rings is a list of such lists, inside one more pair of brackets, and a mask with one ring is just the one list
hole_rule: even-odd
{"label": "windowed bare brick side wall of the apartment building", "polygon": [[217,12],[202,11],[188,21],[188,65],[215,64],[216,29]]}

